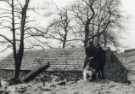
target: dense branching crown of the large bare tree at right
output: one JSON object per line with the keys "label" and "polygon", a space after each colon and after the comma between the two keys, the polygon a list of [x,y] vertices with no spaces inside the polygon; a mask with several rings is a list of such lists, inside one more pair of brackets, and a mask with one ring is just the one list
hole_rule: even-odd
{"label": "dense branching crown of the large bare tree at right", "polygon": [[[120,12],[118,0],[81,0],[72,6],[72,11],[77,18],[77,23],[84,33],[84,47],[89,46],[89,42],[95,45],[108,42],[116,43],[112,31],[120,27]],[[103,40],[104,39],[104,40]]]}

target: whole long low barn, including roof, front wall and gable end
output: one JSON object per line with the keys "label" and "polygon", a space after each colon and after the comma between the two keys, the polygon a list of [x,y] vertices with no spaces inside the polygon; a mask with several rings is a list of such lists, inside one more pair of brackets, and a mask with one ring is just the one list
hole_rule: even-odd
{"label": "whole long low barn, including roof, front wall and gable end", "polygon": [[[128,79],[135,79],[131,79],[131,76],[129,77],[129,74],[132,75],[129,72],[131,70],[129,65],[132,62],[129,63],[128,61],[134,55],[135,51],[125,51],[124,53],[118,54],[106,50],[105,78],[116,82],[126,82]],[[44,73],[55,74],[69,80],[78,80],[82,78],[84,59],[85,51],[82,48],[27,50],[24,52],[21,77],[31,70],[49,62],[50,67]],[[131,61],[134,62],[134,60]],[[131,67],[133,66],[131,65]],[[8,57],[0,61],[0,77],[11,78],[13,75],[14,62],[12,55],[9,54]]]}

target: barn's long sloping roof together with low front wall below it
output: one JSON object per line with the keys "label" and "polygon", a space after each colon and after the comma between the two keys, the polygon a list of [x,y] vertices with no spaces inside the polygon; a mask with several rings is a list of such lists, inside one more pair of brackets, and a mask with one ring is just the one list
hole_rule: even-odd
{"label": "barn's long sloping roof together with low front wall below it", "polygon": [[[47,73],[64,74],[64,77],[81,77],[85,54],[83,49],[50,49],[50,50],[27,50],[21,66],[21,76],[50,63]],[[0,77],[11,78],[14,75],[14,61],[12,55],[0,61]],[[70,75],[70,76],[69,76]],[[77,76],[77,77],[75,77]]]}

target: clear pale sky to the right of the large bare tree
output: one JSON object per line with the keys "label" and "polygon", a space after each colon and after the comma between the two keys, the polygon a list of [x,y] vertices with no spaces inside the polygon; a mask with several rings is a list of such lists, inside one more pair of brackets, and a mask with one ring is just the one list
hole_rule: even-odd
{"label": "clear pale sky to the right of the large bare tree", "polygon": [[125,31],[129,32],[125,43],[129,48],[135,48],[135,0],[122,0],[122,9],[128,17]]}

